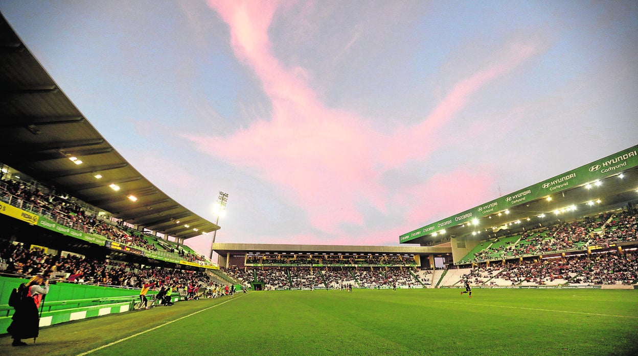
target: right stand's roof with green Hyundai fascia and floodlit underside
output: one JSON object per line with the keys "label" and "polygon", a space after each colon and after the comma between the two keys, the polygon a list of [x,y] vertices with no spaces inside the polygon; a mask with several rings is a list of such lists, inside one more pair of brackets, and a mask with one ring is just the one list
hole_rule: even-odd
{"label": "right stand's roof with green Hyundai fascia and floodlit underside", "polygon": [[572,220],[628,203],[638,203],[638,145],[403,234],[399,242],[428,245],[441,234],[485,235],[509,224]]}

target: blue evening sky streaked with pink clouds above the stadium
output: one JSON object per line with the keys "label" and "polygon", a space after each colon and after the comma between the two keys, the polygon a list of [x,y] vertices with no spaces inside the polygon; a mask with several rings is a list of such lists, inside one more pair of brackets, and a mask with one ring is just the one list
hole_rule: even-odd
{"label": "blue evening sky streaked with pink clouds above the stadium", "polygon": [[[219,243],[399,235],[636,145],[636,1],[11,1],[84,117]],[[211,234],[186,241],[208,254]]]}

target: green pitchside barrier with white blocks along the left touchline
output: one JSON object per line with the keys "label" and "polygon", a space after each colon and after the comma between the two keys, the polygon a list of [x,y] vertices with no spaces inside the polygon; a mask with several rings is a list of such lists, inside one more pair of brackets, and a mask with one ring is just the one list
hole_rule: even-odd
{"label": "green pitchside barrier with white blocks along the left touchline", "polygon": [[[0,276],[0,334],[6,334],[6,328],[11,324],[14,310],[6,304],[11,290],[27,281],[29,280]],[[153,297],[156,293],[147,294],[149,306],[156,303]],[[178,293],[171,296],[172,302],[181,299],[183,297]],[[139,301],[138,289],[57,283],[50,285],[48,294],[40,304],[40,326],[124,313],[138,308]]]}

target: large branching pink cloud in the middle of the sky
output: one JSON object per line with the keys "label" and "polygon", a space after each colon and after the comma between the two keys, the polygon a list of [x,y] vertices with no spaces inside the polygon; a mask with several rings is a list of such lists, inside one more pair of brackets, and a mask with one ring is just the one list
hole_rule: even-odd
{"label": "large branching pink cloud in the middle of the sky", "polygon": [[[420,124],[377,132],[364,118],[325,107],[306,83],[302,68],[283,68],[271,53],[268,28],[275,1],[208,1],[230,27],[235,55],[253,68],[272,102],[272,115],[225,138],[184,135],[198,148],[230,164],[251,167],[281,187],[281,195],[306,211],[316,229],[339,239],[342,223],[363,225],[361,206],[387,211],[392,201],[413,201],[408,221],[419,227],[437,211],[454,212],[458,201],[479,201],[490,177],[456,171],[435,176],[401,196],[389,197],[382,183],[387,169],[425,160],[440,142],[436,131],[464,108],[470,96],[534,52],[521,46],[454,86]],[[415,144],[417,143],[417,144]],[[453,187],[445,190],[445,187]],[[416,192],[416,193],[415,193]],[[448,204],[456,204],[450,205]],[[469,208],[470,206],[468,206]],[[405,231],[372,232],[366,245],[396,241]],[[296,236],[304,243],[320,237]],[[321,241],[325,239],[321,238]],[[346,241],[346,240],[343,240]],[[352,243],[352,236],[348,236]]]}

